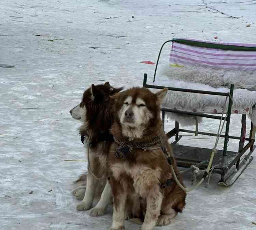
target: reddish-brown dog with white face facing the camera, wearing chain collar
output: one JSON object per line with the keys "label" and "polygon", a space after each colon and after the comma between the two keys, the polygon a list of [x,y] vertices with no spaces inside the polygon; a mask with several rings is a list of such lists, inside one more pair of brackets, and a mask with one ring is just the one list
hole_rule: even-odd
{"label": "reddish-brown dog with white face facing the camera, wearing chain collar", "polygon": [[[114,197],[110,230],[124,229],[127,196],[137,197],[138,206],[142,208],[144,222],[141,230],[170,224],[185,207],[186,193],[172,180],[170,165],[162,151],[165,147],[172,155],[160,119],[160,104],[166,93],[167,89],[154,94],[147,88],[135,87],[113,96],[115,118],[111,133],[115,142],[108,158]],[[142,148],[147,143],[153,144]],[[123,158],[117,154],[122,148]],[[175,162],[173,168],[177,174]],[[169,186],[168,180],[172,181]],[[179,180],[182,183],[182,179]]]}

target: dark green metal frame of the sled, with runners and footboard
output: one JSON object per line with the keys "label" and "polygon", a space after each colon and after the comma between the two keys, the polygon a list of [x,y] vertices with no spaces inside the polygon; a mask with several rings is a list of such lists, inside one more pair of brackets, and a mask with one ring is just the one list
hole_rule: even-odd
{"label": "dark green metal frame of the sled, with runners and footboard", "polygon": [[[173,40],[174,39],[168,40],[165,43],[163,43],[163,45],[160,49],[157,63],[156,63],[156,68],[155,68],[154,80],[155,80],[156,70],[157,70],[158,61],[160,58],[162,48],[166,43],[173,42]],[[176,39],[175,39],[175,41],[176,41]],[[189,40],[187,41],[184,39],[181,40],[181,42],[184,42],[183,44],[185,44],[187,42],[191,43],[191,41],[189,41]],[[193,42],[193,43],[194,43],[193,45],[200,46],[200,47],[212,46],[212,44],[202,43],[202,42],[200,42],[198,44],[195,42]],[[216,44],[216,46],[217,47],[221,46],[222,49],[233,49],[233,50],[241,49],[241,47],[226,46],[226,45],[220,45],[220,44]],[[244,48],[247,48],[247,47],[243,47],[242,49],[244,49]],[[245,50],[243,50],[243,51],[245,51]],[[154,88],[154,89],[165,88],[165,86],[147,84],[147,74],[146,73],[144,73],[143,87]],[[221,175],[221,180],[219,181],[219,184],[225,185],[225,186],[232,185],[234,182],[236,182],[236,180],[239,178],[239,176],[242,174],[242,172],[245,170],[245,168],[253,160],[253,156],[251,156],[251,154],[255,149],[254,141],[255,141],[255,131],[256,131],[256,127],[254,127],[253,124],[251,124],[250,136],[249,136],[249,138],[245,137],[246,114],[243,114],[242,119],[241,119],[241,135],[240,135],[240,137],[229,135],[229,124],[230,124],[230,118],[231,118],[232,96],[233,96],[234,85],[233,84],[230,85],[229,93],[220,93],[220,92],[202,91],[202,90],[184,89],[184,88],[174,88],[174,87],[167,87],[167,88],[168,88],[168,90],[171,90],[171,91],[229,97],[228,111],[227,111],[227,117],[226,117],[226,131],[225,131],[225,135],[221,135],[221,137],[225,138],[224,147],[223,147],[223,150],[217,150],[217,153],[215,155],[212,165],[216,165],[213,169],[213,172]],[[167,109],[167,108],[161,108],[161,111],[162,111],[163,125],[164,125],[164,120],[165,120],[165,112],[174,112],[174,113],[178,113],[178,114],[186,114],[186,115],[192,115],[192,116],[224,120],[224,117],[203,114],[203,113],[186,112],[186,111]],[[180,129],[179,122],[175,121],[175,127],[166,134],[168,136],[168,138],[175,136],[175,141],[172,143],[172,148],[173,148],[173,152],[174,152],[174,157],[177,161],[177,165],[179,167],[189,168],[183,172],[192,171],[192,169],[191,169],[192,165],[195,165],[196,167],[199,167],[202,170],[205,169],[208,165],[208,162],[209,162],[208,159],[210,159],[212,149],[201,148],[201,147],[190,147],[190,146],[183,146],[183,145],[177,144],[177,142],[182,137],[181,135],[179,135],[179,132],[196,133],[193,130]],[[198,134],[203,134],[203,135],[208,135],[208,136],[217,136],[217,134],[208,133],[208,132],[198,132]],[[229,139],[240,140],[238,152],[227,151]],[[245,145],[245,142],[248,142],[248,143]],[[245,152],[248,149],[250,149],[250,151],[247,153],[247,155],[245,155]]]}

